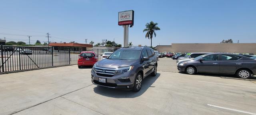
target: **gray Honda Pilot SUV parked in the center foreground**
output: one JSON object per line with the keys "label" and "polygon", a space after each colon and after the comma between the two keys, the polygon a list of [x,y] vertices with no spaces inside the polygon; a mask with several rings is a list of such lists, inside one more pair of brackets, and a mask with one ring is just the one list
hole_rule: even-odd
{"label": "gray Honda Pilot SUV parked in the center foreground", "polygon": [[149,47],[121,48],[94,64],[92,83],[116,89],[140,91],[148,75],[156,76],[157,57]]}

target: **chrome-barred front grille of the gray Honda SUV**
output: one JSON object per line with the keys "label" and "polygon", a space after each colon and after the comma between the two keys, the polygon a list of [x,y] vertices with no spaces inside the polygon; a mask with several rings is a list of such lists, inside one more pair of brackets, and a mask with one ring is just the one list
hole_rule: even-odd
{"label": "chrome-barred front grille of the gray Honda SUV", "polygon": [[97,75],[104,77],[112,77],[116,75],[116,69],[114,68],[104,68],[104,67],[95,67],[95,72]]}

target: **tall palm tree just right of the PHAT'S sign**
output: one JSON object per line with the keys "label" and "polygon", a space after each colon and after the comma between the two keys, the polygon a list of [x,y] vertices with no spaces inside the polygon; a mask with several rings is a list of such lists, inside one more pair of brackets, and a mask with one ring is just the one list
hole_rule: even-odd
{"label": "tall palm tree just right of the PHAT'S sign", "polygon": [[158,25],[158,24],[151,21],[150,23],[146,24],[146,29],[143,30],[143,32],[147,32],[146,33],[146,38],[151,40],[151,47],[152,47],[153,34],[155,35],[155,38],[156,38],[156,32],[155,31],[160,30],[160,28],[156,25]]}

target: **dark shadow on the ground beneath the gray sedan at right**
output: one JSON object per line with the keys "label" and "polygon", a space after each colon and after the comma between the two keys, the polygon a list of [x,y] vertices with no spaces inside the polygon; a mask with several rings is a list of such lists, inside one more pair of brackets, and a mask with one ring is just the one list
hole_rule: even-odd
{"label": "dark shadow on the ground beneath the gray sedan at right", "polygon": [[[184,71],[179,71],[179,73],[186,74]],[[188,74],[187,74],[188,75]],[[196,73],[195,75],[201,75],[201,76],[206,76],[206,77],[230,77],[230,78],[240,78],[237,77],[236,75],[232,74],[217,74],[217,73]],[[256,79],[256,76],[250,77],[250,79]]]}

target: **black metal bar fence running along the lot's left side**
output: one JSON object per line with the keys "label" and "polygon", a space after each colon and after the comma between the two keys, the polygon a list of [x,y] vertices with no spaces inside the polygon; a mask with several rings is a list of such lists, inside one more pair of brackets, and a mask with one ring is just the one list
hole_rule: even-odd
{"label": "black metal bar fence running along the lot's left side", "polygon": [[[1,45],[0,73],[56,67],[77,63],[78,55],[82,51],[74,48],[48,48],[31,46],[2,46]],[[98,60],[103,52],[111,50],[93,49]]]}

